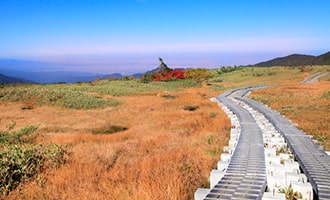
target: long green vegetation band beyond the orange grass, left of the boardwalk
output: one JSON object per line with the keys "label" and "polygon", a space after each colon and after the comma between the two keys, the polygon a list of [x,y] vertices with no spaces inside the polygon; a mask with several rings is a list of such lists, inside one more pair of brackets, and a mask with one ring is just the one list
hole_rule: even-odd
{"label": "long green vegetation band beyond the orange grass, left of the boardwalk", "polygon": [[[200,87],[192,80],[141,83],[139,81],[99,80],[92,83],[53,85],[8,85],[0,90],[0,101],[23,102],[22,109],[35,106],[63,106],[72,109],[93,109],[121,104],[115,98],[102,95],[131,96],[160,90],[178,91],[182,88]],[[93,93],[93,94],[91,94]]]}

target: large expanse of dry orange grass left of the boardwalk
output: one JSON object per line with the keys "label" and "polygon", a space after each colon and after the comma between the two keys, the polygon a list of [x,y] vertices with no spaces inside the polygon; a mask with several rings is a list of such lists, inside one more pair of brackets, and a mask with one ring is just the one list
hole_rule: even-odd
{"label": "large expanse of dry orange grass left of the boardwalk", "polygon": [[[37,142],[67,146],[67,162],[8,199],[192,199],[208,184],[230,121],[207,88],[117,97],[117,107],[70,110],[0,103],[1,127],[39,124]],[[171,96],[173,98],[165,98]],[[195,111],[185,106],[199,106]],[[111,135],[92,130],[118,125]],[[45,182],[43,182],[46,180]]]}

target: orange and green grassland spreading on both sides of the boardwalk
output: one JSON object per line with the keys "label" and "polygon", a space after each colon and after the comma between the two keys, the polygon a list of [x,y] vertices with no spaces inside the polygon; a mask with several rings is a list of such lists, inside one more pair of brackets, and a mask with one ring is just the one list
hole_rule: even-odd
{"label": "orange and green grassland spreading on both sides of the boardwalk", "polygon": [[330,150],[330,75],[301,83],[319,71],[330,66],[213,69],[202,82],[1,85],[0,133],[36,127],[15,145],[57,145],[61,162],[2,190],[0,199],[193,199],[229,140],[230,121],[210,98],[235,87],[271,84],[250,97]]}

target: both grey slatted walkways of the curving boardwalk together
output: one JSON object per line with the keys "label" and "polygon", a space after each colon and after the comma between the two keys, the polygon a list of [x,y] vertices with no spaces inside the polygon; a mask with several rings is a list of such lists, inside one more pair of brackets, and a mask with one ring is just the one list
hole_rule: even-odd
{"label": "both grey slatted walkways of the curving boardwalk together", "polygon": [[[213,173],[213,177],[217,177],[216,183],[211,183],[211,189],[198,189],[195,199],[263,198],[268,177],[263,131],[257,124],[258,119],[243,104],[261,113],[283,136],[294,158],[298,161],[300,170],[312,186],[313,195],[309,195],[309,199],[313,197],[314,199],[330,199],[330,156],[317,146],[310,136],[294,127],[278,112],[244,97],[251,90],[260,87],[229,90],[216,97],[217,101],[237,116],[240,126],[239,139],[228,161],[228,166],[223,168],[223,171],[217,170]],[[214,179],[212,172],[211,179]]]}

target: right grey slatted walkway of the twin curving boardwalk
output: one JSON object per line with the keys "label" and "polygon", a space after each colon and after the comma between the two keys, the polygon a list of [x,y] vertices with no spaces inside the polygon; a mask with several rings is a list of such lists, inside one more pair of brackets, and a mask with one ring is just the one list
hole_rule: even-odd
{"label": "right grey slatted walkway of the twin curving boardwalk", "polygon": [[283,135],[302,171],[313,186],[314,196],[330,199],[330,156],[316,145],[310,136],[271,108],[246,97],[236,97],[263,115]]}

